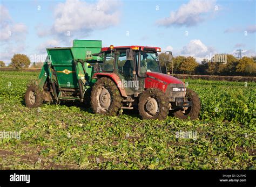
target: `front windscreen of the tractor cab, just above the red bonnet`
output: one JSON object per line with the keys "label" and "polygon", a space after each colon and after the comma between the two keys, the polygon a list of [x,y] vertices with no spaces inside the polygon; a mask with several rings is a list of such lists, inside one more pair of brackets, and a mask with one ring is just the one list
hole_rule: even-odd
{"label": "front windscreen of the tractor cab, just above the red bonnet", "polygon": [[[139,53],[136,53],[136,59],[138,64]],[[141,52],[140,53],[140,74],[145,74],[146,72],[157,72],[161,73],[158,56],[156,53]]]}

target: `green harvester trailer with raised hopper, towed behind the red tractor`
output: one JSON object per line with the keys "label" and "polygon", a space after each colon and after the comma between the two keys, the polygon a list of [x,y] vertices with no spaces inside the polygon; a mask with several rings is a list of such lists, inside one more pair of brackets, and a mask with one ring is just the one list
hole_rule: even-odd
{"label": "green harvester trailer with raised hopper, towed behind the red tractor", "polygon": [[95,64],[103,61],[92,54],[99,53],[101,48],[100,40],[73,40],[73,47],[46,48],[47,59],[38,80],[26,92],[26,105],[37,107],[53,99],[88,101],[96,82],[92,79]]}

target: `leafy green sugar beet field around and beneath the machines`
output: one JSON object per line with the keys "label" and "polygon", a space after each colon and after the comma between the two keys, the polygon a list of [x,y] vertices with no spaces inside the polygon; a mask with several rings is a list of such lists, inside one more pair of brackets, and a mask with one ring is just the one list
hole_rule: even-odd
{"label": "leafy green sugar beet field around and beneath the machines", "polygon": [[0,132],[20,132],[0,139],[0,169],[255,169],[256,83],[186,80],[200,119],[158,121],[76,103],[30,109],[24,93],[37,75],[0,71]]}

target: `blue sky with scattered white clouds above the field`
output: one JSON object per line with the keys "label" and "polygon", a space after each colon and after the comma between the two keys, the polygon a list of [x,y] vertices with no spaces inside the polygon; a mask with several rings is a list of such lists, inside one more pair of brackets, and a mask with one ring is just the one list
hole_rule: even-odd
{"label": "blue sky with scattered white clouds above the field", "polygon": [[255,0],[0,0],[0,60],[14,54],[44,61],[46,47],[73,39],[103,47],[161,47],[200,62],[214,54],[256,55]]}

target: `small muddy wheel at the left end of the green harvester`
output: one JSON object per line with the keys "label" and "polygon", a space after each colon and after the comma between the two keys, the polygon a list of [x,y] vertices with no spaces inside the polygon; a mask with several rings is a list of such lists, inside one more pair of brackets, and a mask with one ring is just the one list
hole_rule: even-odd
{"label": "small muddy wheel at the left end of the green harvester", "polygon": [[26,106],[38,107],[43,103],[43,91],[37,85],[30,85],[25,93]]}

